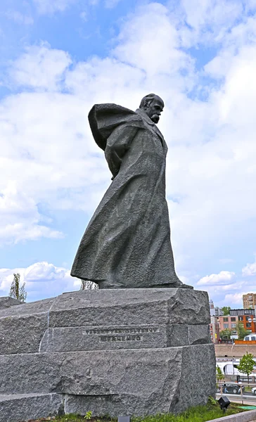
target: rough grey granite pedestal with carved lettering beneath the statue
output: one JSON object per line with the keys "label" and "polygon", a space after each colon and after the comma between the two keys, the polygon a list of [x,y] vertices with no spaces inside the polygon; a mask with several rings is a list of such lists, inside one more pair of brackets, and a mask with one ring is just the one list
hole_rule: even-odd
{"label": "rough grey granite pedestal with carved lettering beneath the statue", "polygon": [[215,395],[209,323],[207,293],[180,288],[84,290],[2,309],[0,422],[206,403]]}

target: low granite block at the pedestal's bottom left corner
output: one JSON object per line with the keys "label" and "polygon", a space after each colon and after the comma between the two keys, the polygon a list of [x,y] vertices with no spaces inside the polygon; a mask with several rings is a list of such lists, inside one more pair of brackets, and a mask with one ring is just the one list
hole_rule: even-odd
{"label": "low granite block at the pedestal's bottom left corner", "polygon": [[0,395],[0,422],[20,422],[63,411],[63,397],[57,394]]}

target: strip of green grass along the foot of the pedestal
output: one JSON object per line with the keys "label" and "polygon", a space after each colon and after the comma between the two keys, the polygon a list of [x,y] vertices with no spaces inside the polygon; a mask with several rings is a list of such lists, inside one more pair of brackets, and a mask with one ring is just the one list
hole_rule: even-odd
{"label": "strip of green grass along the foot of the pedestal", "polygon": [[[208,403],[205,406],[193,407],[179,416],[174,416],[172,414],[160,414],[156,416],[133,417],[132,422],[205,422],[243,411],[243,409],[239,409],[238,406],[240,406],[240,404],[231,403],[229,405],[229,409],[225,414],[223,414],[223,411],[219,408],[219,404]],[[56,416],[56,418],[42,418],[37,421],[30,422],[117,422],[117,418],[110,418],[109,416],[105,416],[103,418],[95,418],[93,415],[91,417],[90,416],[90,414],[87,414],[87,417],[70,414],[65,416]]]}

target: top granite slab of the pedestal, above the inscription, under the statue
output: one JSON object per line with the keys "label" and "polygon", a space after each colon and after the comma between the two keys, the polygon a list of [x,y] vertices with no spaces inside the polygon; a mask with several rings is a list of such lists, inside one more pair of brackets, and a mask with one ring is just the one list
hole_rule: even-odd
{"label": "top granite slab of the pedestal, above the inscription, under the statue", "polygon": [[84,290],[58,296],[49,326],[210,324],[206,292],[180,288]]}

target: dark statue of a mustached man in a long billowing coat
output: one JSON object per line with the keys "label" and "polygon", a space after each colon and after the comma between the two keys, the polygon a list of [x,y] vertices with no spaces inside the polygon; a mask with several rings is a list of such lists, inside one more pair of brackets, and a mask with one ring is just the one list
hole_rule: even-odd
{"label": "dark statue of a mustached man in a long billowing coat", "polygon": [[149,94],[136,112],[96,104],[91,132],[112,183],[77,250],[71,275],[99,288],[187,288],[178,279],[165,199],[167,144],[155,124],[164,108]]}

